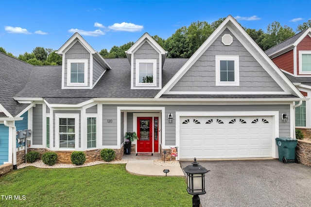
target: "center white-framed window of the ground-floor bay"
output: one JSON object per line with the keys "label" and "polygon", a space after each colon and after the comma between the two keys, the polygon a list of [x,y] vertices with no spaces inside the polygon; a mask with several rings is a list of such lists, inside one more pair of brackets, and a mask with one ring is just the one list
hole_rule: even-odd
{"label": "center white-framed window of the ground-floor bay", "polygon": [[58,149],[75,150],[79,147],[79,114],[55,114],[55,141]]}

